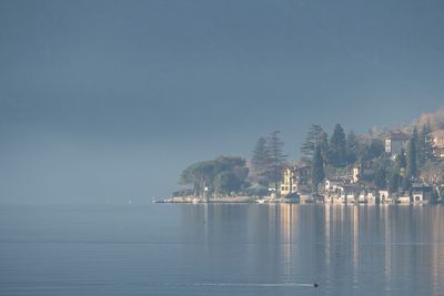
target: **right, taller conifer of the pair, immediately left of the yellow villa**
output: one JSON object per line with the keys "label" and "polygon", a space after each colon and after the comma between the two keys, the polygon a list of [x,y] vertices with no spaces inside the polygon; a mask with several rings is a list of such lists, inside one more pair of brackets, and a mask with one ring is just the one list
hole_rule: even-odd
{"label": "right, taller conifer of the pair, immediately left of the yellow villa", "polygon": [[281,140],[280,131],[272,132],[266,141],[268,153],[270,156],[270,172],[274,188],[279,194],[279,182],[282,177],[282,172],[286,162],[286,155],[283,152],[284,143]]}

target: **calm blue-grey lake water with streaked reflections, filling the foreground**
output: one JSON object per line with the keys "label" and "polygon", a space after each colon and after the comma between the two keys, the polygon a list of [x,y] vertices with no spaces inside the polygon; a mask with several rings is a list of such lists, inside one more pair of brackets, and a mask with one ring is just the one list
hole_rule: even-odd
{"label": "calm blue-grey lake water with streaked reflections, filling the foreground", "polygon": [[444,294],[443,206],[0,208],[0,295],[381,294]]}

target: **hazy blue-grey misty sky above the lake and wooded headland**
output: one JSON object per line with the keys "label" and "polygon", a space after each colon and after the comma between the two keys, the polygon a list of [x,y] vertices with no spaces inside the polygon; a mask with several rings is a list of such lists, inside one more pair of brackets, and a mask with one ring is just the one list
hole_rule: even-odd
{"label": "hazy blue-grey misty sky above the lake and wooded headland", "polygon": [[0,204],[165,197],[189,164],[444,105],[442,0],[0,0]]}

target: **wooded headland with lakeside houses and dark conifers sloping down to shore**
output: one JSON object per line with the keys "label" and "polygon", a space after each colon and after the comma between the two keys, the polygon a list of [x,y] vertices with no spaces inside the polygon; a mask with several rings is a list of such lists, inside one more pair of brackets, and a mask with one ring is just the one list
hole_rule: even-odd
{"label": "wooded headland with lakeside houses and dark conifers sloping down to shore", "polygon": [[182,188],[159,203],[426,204],[444,202],[444,109],[411,125],[329,137],[310,126],[301,160],[289,162],[275,131],[251,160],[220,156],[181,174]]}

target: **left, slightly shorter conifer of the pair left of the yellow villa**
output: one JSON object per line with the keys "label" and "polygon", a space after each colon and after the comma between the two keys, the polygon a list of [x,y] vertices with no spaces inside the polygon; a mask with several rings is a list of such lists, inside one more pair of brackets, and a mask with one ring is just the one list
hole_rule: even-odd
{"label": "left, slightly shorter conifer of the pair left of the yellow villa", "polygon": [[253,156],[251,157],[252,174],[251,178],[261,185],[268,185],[270,181],[270,174],[268,169],[270,167],[270,155],[266,147],[265,137],[260,137],[254,146]]}

